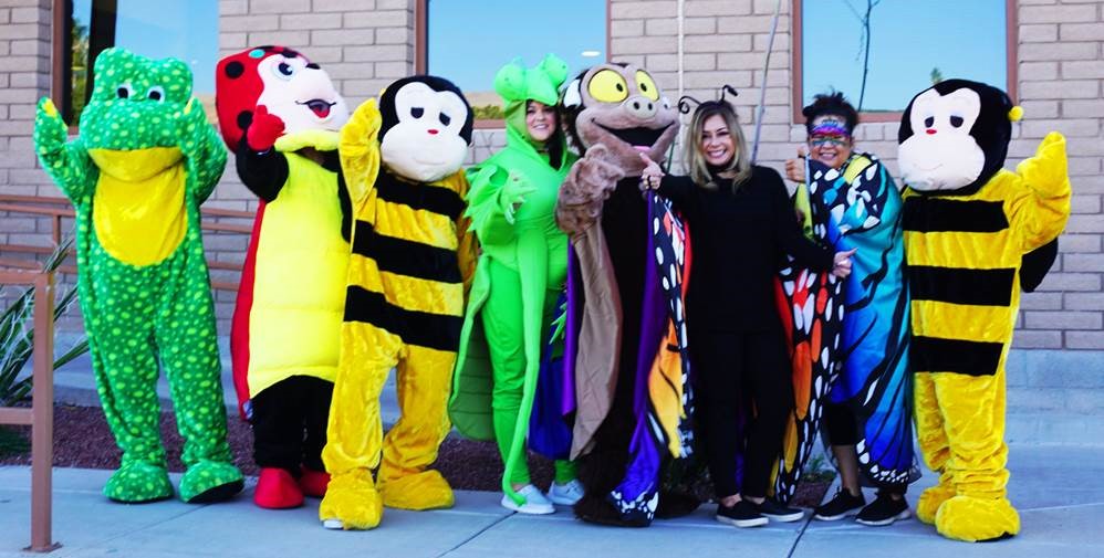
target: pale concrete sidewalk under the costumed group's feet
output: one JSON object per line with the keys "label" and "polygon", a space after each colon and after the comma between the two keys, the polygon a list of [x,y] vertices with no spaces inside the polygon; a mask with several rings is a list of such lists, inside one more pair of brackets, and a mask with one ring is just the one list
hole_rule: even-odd
{"label": "pale concrete sidewalk under the costumed group's feet", "polygon": [[[317,501],[283,512],[262,510],[247,492],[230,503],[195,506],[177,501],[125,506],[100,488],[110,472],[54,471],[56,557],[923,557],[1046,558],[1104,556],[1104,448],[1017,445],[1011,450],[1011,496],[1023,533],[991,544],[946,540],[915,519],[871,528],[805,519],[737,529],[714,520],[712,505],[647,529],[618,529],[551,516],[512,514],[494,493],[464,492],[440,512],[388,509],[372,531],[329,531]],[[174,476],[174,481],[178,475]],[[928,473],[910,491],[935,482]],[[831,493],[830,493],[831,494]],[[28,556],[30,468],[0,467],[0,557]]]}

